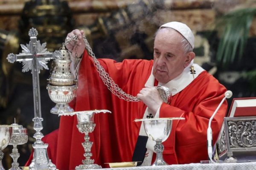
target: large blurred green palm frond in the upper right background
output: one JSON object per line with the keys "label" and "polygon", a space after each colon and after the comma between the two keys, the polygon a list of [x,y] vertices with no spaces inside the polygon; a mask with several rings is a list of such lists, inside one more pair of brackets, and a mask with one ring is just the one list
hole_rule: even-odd
{"label": "large blurred green palm frond in the upper right background", "polygon": [[235,60],[241,61],[255,15],[256,8],[245,8],[230,12],[221,18],[218,26],[224,26],[224,31],[216,57],[219,65],[226,67]]}

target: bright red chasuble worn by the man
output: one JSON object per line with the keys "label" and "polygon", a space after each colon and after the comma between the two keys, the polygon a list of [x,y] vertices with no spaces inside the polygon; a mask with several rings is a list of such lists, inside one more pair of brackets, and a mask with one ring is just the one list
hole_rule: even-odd
{"label": "bright red chasuble worn by the man", "polygon": [[[110,77],[127,94],[137,96],[151,74],[153,60],[99,59]],[[207,126],[209,118],[224,97],[226,88],[212,75],[203,71],[186,88],[172,97],[170,105],[163,103],[160,117],[185,117],[173,121],[172,132],[163,143],[164,160],[168,164],[185,164],[207,159]],[[131,161],[146,106],[143,102],[126,102],[113,95],[104,85],[99,73],[84,52],[79,69],[79,88],[73,102],[75,111],[107,109],[112,113],[94,116],[96,127],[90,133],[93,142],[92,158],[96,164],[106,167],[107,162]],[[227,102],[219,109],[212,121],[213,141],[227,111]],[[72,170],[84,159],[84,134],[79,133],[76,116],[62,116],[57,138],[49,134],[49,158],[60,170]],[[54,144],[57,142],[57,146]],[[152,159],[154,161],[154,157]]]}

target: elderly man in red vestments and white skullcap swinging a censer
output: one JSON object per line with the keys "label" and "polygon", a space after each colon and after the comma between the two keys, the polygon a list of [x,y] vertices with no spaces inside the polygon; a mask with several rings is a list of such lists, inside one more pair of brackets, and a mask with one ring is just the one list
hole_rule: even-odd
{"label": "elderly man in red vestments and white skullcap swinging a censer", "polygon": [[[127,94],[141,102],[126,102],[108,90],[99,77],[93,59],[84,51],[83,31],[76,34],[78,56],[83,54],[79,68],[79,88],[75,111],[108,109],[111,114],[96,114],[96,127],[90,134],[92,152],[97,164],[140,160],[150,165],[155,159],[154,148],[145,138],[141,123],[134,119],[145,117],[184,117],[173,121],[172,133],[163,142],[163,158],[168,164],[185,164],[207,159],[207,125],[209,118],[224,97],[226,89],[212,75],[193,63],[194,35],[183,23],[166,23],[159,28],[154,40],[154,60],[132,59],[116,62],[99,59],[114,82]],[[71,50],[72,44],[67,48]],[[73,51],[75,53],[75,51]],[[163,102],[154,86],[172,89],[172,100]],[[212,121],[213,141],[216,140],[223,117],[225,102]],[[57,145],[49,143],[49,157],[58,169],[74,169],[84,159],[81,143],[84,134],[77,130],[76,117],[61,117]],[[53,136],[53,135],[52,135]]]}

